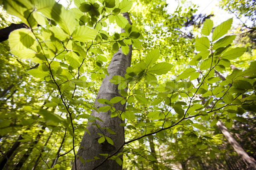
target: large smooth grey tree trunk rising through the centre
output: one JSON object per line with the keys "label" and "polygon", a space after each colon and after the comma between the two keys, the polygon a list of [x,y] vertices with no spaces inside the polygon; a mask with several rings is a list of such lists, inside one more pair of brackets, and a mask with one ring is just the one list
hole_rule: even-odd
{"label": "large smooth grey tree trunk rising through the centre", "polygon": [[[127,18],[128,22],[131,24],[129,14],[126,12],[123,14],[123,16]],[[124,29],[122,29],[122,32],[124,32]],[[105,77],[102,81],[95,101],[96,106],[104,106],[103,104],[97,102],[97,99],[110,100],[115,96],[121,96],[117,88],[118,85],[111,83],[109,80],[115,75],[125,77],[126,68],[131,65],[131,52],[132,46],[129,45],[129,53],[127,55],[122,53],[121,48],[119,48],[119,51],[113,55],[113,58],[108,66],[109,76]],[[125,105],[118,102],[115,103],[113,107],[116,108],[116,111],[122,111]],[[122,121],[118,116],[111,118],[111,111],[97,113],[94,110],[92,111],[91,115],[99,117],[103,120],[103,122],[96,120],[93,123],[89,123],[87,129],[90,131],[90,134],[85,131],[77,155],[81,156],[84,161],[94,159],[95,156],[99,157],[99,159],[90,162],[85,161],[85,164],[83,164],[79,157],[77,157],[76,161],[73,163],[72,170],[93,169],[105,159],[105,156],[101,156],[99,154],[111,154],[124,143],[124,130],[123,127],[120,126]],[[95,124],[100,125],[100,127],[110,127],[111,130],[113,130],[116,134],[110,134],[107,132],[107,130],[99,129],[95,126]],[[99,144],[98,139],[101,136],[99,136],[97,133],[110,137],[113,140],[113,145],[109,144],[107,141]],[[120,158],[122,159],[122,156],[120,156]],[[108,160],[102,166],[98,167],[97,170],[122,170],[122,166],[117,164],[115,160]]]}

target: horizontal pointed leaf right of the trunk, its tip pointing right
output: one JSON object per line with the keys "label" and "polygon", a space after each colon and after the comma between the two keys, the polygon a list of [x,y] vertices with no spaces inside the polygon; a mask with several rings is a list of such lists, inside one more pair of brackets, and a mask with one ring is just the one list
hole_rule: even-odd
{"label": "horizontal pointed leaf right of the trunk, its tip pointing right", "polygon": [[162,75],[170,71],[172,67],[173,65],[168,62],[160,62],[149,68],[147,72],[150,72],[151,74]]}

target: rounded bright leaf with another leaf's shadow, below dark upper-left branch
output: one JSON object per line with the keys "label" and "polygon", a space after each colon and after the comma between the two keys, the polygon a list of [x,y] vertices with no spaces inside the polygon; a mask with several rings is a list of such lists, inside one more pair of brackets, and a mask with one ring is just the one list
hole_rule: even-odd
{"label": "rounded bright leaf with another leaf's shadow, below dark upper-left branch", "polygon": [[12,31],[9,35],[9,45],[11,50],[26,50],[35,42],[35,36],[31,30],[26,28]]}

